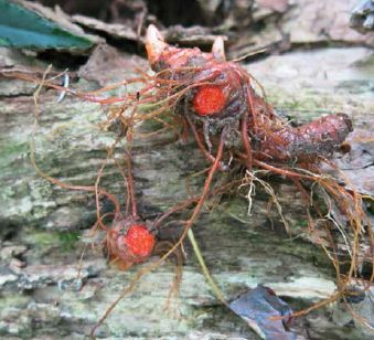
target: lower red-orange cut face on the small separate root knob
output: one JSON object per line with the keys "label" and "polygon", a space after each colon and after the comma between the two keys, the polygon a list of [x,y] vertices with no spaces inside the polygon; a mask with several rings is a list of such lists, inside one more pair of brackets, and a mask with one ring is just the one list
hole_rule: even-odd
{"label": "lower red-orange cut face on the small separate root knob", "polygon": [[147,230],[145,225],[131,225],[125,243],[133,255],[147,257],[153,249],[154,236]]}

